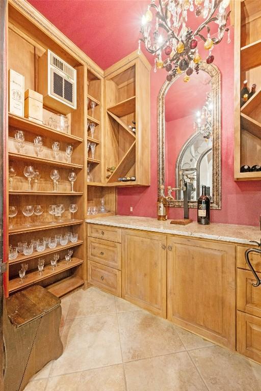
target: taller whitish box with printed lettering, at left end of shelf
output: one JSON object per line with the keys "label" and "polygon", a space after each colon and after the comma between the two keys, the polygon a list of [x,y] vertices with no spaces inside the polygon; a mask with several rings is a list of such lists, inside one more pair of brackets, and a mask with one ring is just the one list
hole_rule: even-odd
{"label": "taller whitish box with printed lettering, at left end of shelf", "polygon": [[9,69],[9,111],[16,116],[23,117],[24,113],[24,76],[13,69]]}

